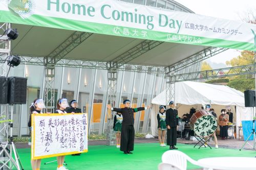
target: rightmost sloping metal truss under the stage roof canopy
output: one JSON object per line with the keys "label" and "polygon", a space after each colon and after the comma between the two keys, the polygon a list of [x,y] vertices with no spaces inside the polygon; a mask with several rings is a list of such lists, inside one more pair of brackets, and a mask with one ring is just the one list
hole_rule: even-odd
{"label": "rightmost sloping metal truss under the stage roof canopy", "polygon": [[[212,56],[215,56],[217,54],[220,54],[224,51],[228,50],[228,48],[221,48],[221,47],[208,47],[205,50],[194,54],[184,60],[181,60],[173,65],[170,65],[168,67],[165,67],[166,69],[166,74],[169,73],[170,71],[168,69],[172,68],[175,70],[175,72],[178,72],[188,66],[191,66],[193,64],[196,64],[198,62],[201,62],[207,58],[210,58]],[[170,68],[169,68],[170,67]]]}

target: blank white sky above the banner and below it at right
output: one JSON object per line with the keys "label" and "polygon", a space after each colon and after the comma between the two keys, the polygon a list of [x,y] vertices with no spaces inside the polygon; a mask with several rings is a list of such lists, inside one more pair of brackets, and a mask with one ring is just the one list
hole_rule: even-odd
{"label": "blank white sky above the banner and below it at right", "polygon": [[[256,0],[174,0],[196,14],[239,20],[244,18],[246,13],[253,11],[256,14]],[[227,50],[206,60],[212,64],[222,66],[226,61],[240,55],[238,50]],[[214,66],[216,68],[216,66]],[[218,67],[218,66],[217,66]]]}

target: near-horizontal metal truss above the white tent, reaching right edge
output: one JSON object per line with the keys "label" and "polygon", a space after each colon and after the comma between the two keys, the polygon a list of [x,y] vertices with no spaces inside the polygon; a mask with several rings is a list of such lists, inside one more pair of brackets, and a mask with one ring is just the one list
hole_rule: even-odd
{"label": "near-horizontal metal truss above the white tent, reaching right edge", "polygon": [[173,75],[169,82],[174,83],[188,80],[201,80],[248,74],[254,74],[254,64]]}

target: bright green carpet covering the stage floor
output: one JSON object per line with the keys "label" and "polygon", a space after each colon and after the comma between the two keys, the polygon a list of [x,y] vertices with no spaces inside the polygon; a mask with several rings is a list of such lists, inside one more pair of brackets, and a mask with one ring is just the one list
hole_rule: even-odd
{"label": "bright green carpet covering the stage floor", "polygon": [[[254,157],[255,151],[238,149],[209,149],[201,148],[195,149],[194,145],[178,143],[179,151],[184,152],[191,158],[198,160],[206,157],[220,157],[220,156],[242,156]],[[168,150],[168,147],[160,147],[158,143],[137,143],[133,155],[125,155],[119,151],[115,146],[107,145],[89,145],[88,153],[81,156],[66,156],[66,162],[70,170],[78,169],[154,169],[156,170],[158,164],[161,162],[162,154]],[[22,160],[25,170],[31,169],[30,165],[30,149],[18,149],[20,159]],[[57,162],[44,164],[47,161],[56,160],[56,158],[42,159],[41,170],[56,169]],[[188,163],[187,169],[200,168],[198,166]]]}

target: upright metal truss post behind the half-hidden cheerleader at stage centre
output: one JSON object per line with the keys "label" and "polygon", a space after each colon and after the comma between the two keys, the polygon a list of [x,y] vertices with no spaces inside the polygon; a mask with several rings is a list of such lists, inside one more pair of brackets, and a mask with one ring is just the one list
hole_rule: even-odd
{"label": "upright metal truss post behind the half-hidden cheerleader at stage centre", "polygon": [[[115,63],[114,63],[115,64]],[[113,63],[109,63],[108,67],[112,67]],[[117,70],[108,70],[108,104],[111,107],[116,107],[117,104]],[[107,114],[107,129],[106,129],[106,139],[107,145],[115,144],[115,133],[113,130],[113,112],[112,114]]]}

